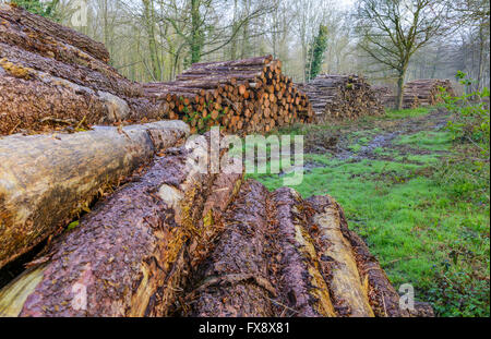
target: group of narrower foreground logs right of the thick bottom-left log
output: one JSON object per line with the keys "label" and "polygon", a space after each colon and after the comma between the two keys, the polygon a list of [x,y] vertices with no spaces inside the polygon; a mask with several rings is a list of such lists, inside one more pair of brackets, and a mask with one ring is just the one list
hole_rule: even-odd
{"label": "group of narrower foreground logs right of the thick bottom-left log", "polygon": [[303,201],[295,190],[270,193],[248,181],[224,227],[187,287],[181,315],[409,315],[332,197]]}

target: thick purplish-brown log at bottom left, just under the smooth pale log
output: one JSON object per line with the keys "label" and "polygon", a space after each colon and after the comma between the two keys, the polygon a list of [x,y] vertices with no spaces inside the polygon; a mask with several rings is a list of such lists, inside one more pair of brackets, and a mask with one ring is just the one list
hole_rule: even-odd
{"label": "thick purplish-brown log at bottom left, just under the smooth pale log", "polygon": [[[165,316],[176,302],[187,243],[199,237],[213,187],[236,186],[189,164],[204,138],[172,149],[62,234],[33,268],[0,292],[9,316]],[[216,197],[215,197],[216,198]],[[218,206],[218,207],[217,207]],[[223,210],[226,204],[209,206]],[[206,210],[206,208],[205,208]],[[116,222],[116,223],[115,223]],[[40,262],[43,258],[38,259]]]}

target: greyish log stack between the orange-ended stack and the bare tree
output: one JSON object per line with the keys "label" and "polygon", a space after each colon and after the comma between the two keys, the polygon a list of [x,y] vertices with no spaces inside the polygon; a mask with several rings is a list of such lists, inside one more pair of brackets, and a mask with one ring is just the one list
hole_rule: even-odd
{"label": "greyish log stack between the orange-ended stack and the bare tree", "polygon": [[356,119],[384,111],[376,93],[362,76],[322,74],[297,87],[309,97],[319,121]]}

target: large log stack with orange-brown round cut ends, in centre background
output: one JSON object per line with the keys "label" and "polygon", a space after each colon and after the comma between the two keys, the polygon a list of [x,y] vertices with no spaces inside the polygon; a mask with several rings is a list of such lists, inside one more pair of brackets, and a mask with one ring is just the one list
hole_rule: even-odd
{"label": "large log stack with orange-brown round cut ends, in centre background", "polygon": [[282,73],[272,56],[194,63],[167,83],[143,84],[163,114],[181,119],[192,132],[221,125],[225,132],[268,132],[292,122],[311,122],[307,96]]}

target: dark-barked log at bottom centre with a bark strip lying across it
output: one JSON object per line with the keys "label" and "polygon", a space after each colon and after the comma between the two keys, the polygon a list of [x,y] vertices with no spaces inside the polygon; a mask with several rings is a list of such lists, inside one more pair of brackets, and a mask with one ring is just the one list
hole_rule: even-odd
{"label": "dark-barked log at bottom centre with a bark strip lying across it", "polygon": [[190,294],[191,316],[273,316],[265,247],[266,189],[248,181],[227,211],[225,232],[201,267]]}

